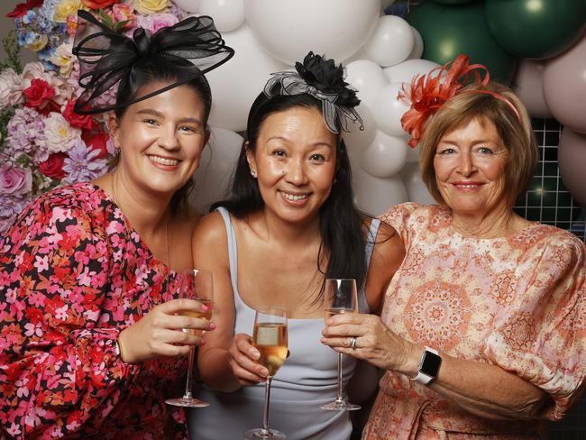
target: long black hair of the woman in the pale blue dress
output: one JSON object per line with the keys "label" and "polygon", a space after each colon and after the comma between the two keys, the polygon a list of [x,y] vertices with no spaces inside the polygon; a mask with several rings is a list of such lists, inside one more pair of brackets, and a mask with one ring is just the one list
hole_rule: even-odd
{"label": "long black hair of the woman in the pale blue dress", "polygon": [[[267,117],[294,107],[316,108],[322,113],[321,102],[308,94],[268,97],[262,93],[256,98],[248,115],[245,140],[233,174],[231,195],[228,199],[215,203],[210,210],[224,206],[232,215],[242,218],[263,209],[264,200],[258,181],[251,176],[246,160],[246,142],[248,148],[254,152],[262,124]],[[353,203],[352,170],[339,129],[340,127],[336,136],[334,185],[319,211],[321,243],[317,255],[317,269],[325,275],[325,279],[353,278],[358,286],[362,286],[367,269],[365,234],[362,230],[362,215]],[[323,270],[320,261],[325,256],[328,262],[327,268]],[[319,298],[323,295],[325,279]]]}

